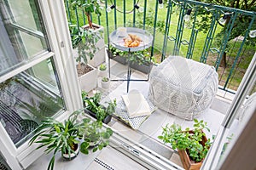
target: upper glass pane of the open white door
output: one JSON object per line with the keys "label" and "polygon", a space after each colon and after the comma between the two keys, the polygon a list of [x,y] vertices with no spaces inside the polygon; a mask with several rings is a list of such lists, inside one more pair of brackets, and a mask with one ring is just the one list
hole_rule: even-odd
{"label": "upper glass pane of the open white door", "polygon": [[0,75],[48,50],[37,1],[0,3]]}

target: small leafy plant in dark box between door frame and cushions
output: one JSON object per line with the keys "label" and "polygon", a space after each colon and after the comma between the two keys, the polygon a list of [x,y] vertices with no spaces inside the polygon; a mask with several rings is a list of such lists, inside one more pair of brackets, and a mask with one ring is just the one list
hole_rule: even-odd
{"label": "small leafy plant in dark box between door frame and cushions", "polygon": [[116,99],[108,102],[105,106],[100,105],[102,94],[96,93],[92,97],[88,97],[87,93],[82,91],[82,99],[84,102],[85,112],[90,116],[93,116],[97,121],[108,124],[111,121],[112,115],[116,107]]}

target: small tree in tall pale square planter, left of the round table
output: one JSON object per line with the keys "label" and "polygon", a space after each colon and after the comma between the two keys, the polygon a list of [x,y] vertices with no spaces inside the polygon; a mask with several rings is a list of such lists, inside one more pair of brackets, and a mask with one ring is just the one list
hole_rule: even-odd
{"label": "small tree in tall pale square planter, left of the round table", "polygon": [[82,26],[84,32],[85,54],[87,54],[88,63],[97,67],[105,62],[105,41],[104,28],[91,21],[91,14],[102,15],[101,6],[98,0],[71,0],[73,8],[81,8],[86,15],[88,25]]}

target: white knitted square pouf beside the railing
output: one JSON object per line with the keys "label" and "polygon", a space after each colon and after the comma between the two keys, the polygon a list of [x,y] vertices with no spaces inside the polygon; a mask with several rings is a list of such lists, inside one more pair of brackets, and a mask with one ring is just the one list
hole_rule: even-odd
{"label": "white knitted square pouf beside the railing", "polygon": [[187,120],[206,111],[218,90],[215,68],[170,56],[150,73],[149,99],[158,108]]}

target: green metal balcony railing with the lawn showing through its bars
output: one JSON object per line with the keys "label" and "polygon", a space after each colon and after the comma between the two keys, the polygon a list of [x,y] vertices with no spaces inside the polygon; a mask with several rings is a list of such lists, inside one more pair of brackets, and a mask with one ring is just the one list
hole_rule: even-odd
{"label": "green metal balcony railing with the lawn showing through its bars", "polygon": [[[256,29],[256,13],[191,0],[167,0],[161,8],[159,2],[102,1],[102,15],[93,14],[93,22],[105,27],[105,37],[119,26],[147,29],[154,37],[151,56],[158,62],[181,55],[213,65],[219,87],[236,92],[255,53],[256,37],[249,32]],[[65,3],[70,24],[84,26],[84,12]]]}

